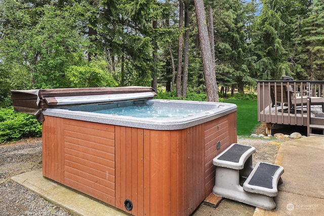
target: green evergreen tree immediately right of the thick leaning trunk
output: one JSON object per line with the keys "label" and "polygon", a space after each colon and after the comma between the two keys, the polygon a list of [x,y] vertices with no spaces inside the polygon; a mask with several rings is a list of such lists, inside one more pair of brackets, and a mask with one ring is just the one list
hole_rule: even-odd
{"label": "green evergreen tree immediately right of the thick leaning trunk", "polygon": [[222,86],[237,83],[240,93],[244,92],[245,84],[255,84],[256,57],[247,35],[251,6],[241,1],[220,1],[215,15],[216,75]]}

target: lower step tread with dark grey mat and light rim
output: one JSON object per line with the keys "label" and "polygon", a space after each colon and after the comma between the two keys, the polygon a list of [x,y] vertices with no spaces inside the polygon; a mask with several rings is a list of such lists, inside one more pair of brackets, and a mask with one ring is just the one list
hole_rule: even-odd
{"label": "lower step tread with dark grey mat and light rim", "polygon": [[243,184],[243,189],[251,193],[277,196],[278,181],[283,173],[282,166],[258,162]]}

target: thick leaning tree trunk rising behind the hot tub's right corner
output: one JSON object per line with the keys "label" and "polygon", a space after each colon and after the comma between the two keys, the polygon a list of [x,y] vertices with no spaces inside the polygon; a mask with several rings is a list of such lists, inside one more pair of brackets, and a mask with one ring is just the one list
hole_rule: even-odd
{"label": "thick leaning tree trunk rising behind the hot tub's right corner", "polygon": [[194,0],[197,18],[201,57],[207,89],[207,101],[218,102],[218,88],[215,76],[215,63],[212,59],[211,45],[206,24],[204,0]]}

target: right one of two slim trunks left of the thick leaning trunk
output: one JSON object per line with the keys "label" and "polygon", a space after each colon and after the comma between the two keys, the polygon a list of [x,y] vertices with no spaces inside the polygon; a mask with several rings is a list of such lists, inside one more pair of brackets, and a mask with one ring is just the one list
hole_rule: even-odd
{"label": "right one of two slim trunks left of the thick leaning trunk", "polygon": [[189,5],[184,4],[184,57],[183,57],[183,81],[182,81],[182,97],[187,97],[188,87],[188,68],[189,68]]}

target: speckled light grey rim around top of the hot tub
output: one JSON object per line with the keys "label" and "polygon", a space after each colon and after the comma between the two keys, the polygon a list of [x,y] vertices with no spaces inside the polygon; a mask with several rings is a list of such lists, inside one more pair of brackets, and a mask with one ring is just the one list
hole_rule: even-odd
{"label": "speckled light grey rim around top of the hot tub", "polygon": [[[139,118],[131,116],[119,116],[111,114],[93,113],[88,111],[71,111],[64,108],[49,108],[43,110],[43,114],[46,116],[61,117],[74,120],[82,120],[88,122],[97,122],[110,125],[128,126],[143,129],[155,129],[161,130],[177,130],[184,129],[191,126],[195,126],[201,123],[205,123],[229,113],[237,111],[237,106],[231,103],[219,103],[219,102],[198,102],[198,101],[179,101],[179,100],[164,100],[164,99],[151,99],[148,101],[159,102],[177,102],[177,103],[193,103],[193,104],[207,104],[207,105],[225,105],[220,108],[206,110],[193,116],[187,116],[184,118],[168,117],[168,118]],[[216,111],[216,112],[213,112]]]}

